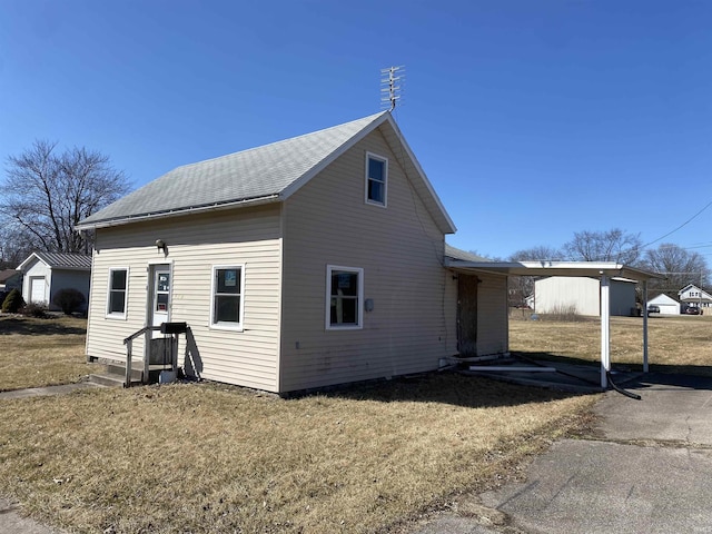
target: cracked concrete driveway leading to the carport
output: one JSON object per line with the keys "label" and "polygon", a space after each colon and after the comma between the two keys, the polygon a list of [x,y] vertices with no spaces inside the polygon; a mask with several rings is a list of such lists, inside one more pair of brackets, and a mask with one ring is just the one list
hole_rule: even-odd
{"label": "cracked concrete driveway leading to the carport", "polygon": [[459,503],[417,534],[712,533],[712,378],[643,375],[607,392],[596,437],[562,439],[527,479]]}

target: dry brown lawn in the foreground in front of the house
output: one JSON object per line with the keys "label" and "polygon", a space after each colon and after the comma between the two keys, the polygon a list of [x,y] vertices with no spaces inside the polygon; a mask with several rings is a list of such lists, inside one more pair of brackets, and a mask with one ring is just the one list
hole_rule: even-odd
{"label": "dry brown lawn in the foreground in front of the house", "polygon": [[[13,345],[37,369],[58,342],[31,325]],[[0,494],[70,532],[385,532],[517,476],[596,398],[432,374],[289,400],[214,384],[4,399]]]}

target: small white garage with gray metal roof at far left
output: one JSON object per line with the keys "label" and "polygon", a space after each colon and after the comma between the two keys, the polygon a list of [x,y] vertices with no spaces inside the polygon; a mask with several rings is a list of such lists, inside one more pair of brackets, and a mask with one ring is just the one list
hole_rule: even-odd
{"label": "small white garage with gray metal roof at far left", "polygon": [[[61,289],[77,289],[89,301],[91,256],[68,253],[32,253],[17,270],[24,275],[22,298],[58,310],[52,298]],[[86,310],[85,304],[83,309]]]}

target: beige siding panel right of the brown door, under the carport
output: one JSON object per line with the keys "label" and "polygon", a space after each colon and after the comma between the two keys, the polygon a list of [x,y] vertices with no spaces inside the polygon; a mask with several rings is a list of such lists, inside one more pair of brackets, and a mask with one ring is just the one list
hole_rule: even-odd
{"label": "beige siding panel right of the brown door, under the carport", "polygon": [[477,274],[477,355],[510,350],[507,278]]}

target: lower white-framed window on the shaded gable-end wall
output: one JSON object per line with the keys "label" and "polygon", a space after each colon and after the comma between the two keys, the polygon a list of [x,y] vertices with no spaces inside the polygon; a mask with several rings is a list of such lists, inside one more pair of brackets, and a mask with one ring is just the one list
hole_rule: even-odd
{"label": "lower white-framed window on the shaded gable-end wall", "polygon": [[363,327],[364,269],[326,266],[326,329]]}

